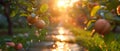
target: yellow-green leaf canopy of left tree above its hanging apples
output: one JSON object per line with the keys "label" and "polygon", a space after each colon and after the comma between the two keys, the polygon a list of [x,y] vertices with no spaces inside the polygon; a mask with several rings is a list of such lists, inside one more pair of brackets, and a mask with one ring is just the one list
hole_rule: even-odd
{"label": "yellow-green leaf canopy of left tree above its hanging apples", "polygon": [[[17,24],[22,26],[21,24],[27,24],[26,18],[22,19],[20,17],[28,17],[32,13],[35,13],[35,16],[39,16],[43,20],[47,20],[48,23],[49,15],[48,15],[48,4],[46,2],[42,3],[42,0],[3,0],[3,3],[10,2],[10,17],[12,17],[13,25]],[[0,4],[0,14],[4,15],[4,6]],[[14,18],[15,17],[15,18]],[[16,20],[15,20],[16,19]],[[6,22],[1,20],[0,22]],[[24,23],[25,22],[25,23]],[[1,27],[3,26],[1,23]],[[6,23],[5,23],[6,24]],[[16,25],[14,25],[16,26]]]}

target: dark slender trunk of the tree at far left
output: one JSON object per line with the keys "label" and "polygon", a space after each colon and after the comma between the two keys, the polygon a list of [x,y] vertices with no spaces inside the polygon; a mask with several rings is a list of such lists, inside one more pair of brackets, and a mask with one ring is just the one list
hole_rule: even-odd
{"label": "dark slender trunk of the tree at far left", "polygon": [[5,16],[7,18],[7,22],[8,22],[8,35],[13,35],[13,31],[12,31],[12,21],[11,21],[11,18],[10,18],[10,4],[6,3],[4,5],[4,13],[5,13]]}

